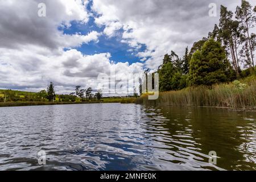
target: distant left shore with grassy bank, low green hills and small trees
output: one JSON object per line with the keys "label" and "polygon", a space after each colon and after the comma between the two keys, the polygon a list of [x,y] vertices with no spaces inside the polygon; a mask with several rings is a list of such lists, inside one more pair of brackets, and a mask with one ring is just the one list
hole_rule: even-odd
{"label": "distant left shore with grassy bank, low green hills and small trees", "polygon": [[67,105],[67,104],[100,104],[100,103],[134,103],[134,96],[126,97],[102,97],[101,90],[92,88],[82,89],[76,86],[75,92],[70,94],[56,94],[54,85],[51,82],[47,90],[38,93],[24,92],[19,90],[0,90],[0,107],[11,106],[40,106],[40,105]]}

